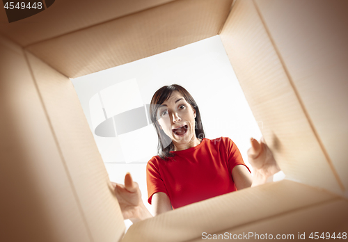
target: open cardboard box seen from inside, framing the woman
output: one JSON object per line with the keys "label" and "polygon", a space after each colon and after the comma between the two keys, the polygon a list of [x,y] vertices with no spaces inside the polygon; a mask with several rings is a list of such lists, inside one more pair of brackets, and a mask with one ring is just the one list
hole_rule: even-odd
{"label": "open cardboard box seen from inside, framing the woman", "polygon": [[[347,10],[344,0],[75,0],[10,24],[1,10],[1,241],[348,232]],[[216,34],[286,180],[175,209],[125,234],[69,77]]]}

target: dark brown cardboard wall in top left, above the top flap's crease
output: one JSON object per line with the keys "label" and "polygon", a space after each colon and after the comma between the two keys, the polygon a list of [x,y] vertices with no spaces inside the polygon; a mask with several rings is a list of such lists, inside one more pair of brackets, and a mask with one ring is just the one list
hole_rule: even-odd
{"label": "dark brown cardboard wall in top left, above the top flap's crease", "polygon": [[[173,0],[54,1],[53,8],[47,8],[38,15],[11,24],[0,24],[0,33],[26,47],[170,1]],[[0,22],[8,23],[3,9],[0,11]]]}

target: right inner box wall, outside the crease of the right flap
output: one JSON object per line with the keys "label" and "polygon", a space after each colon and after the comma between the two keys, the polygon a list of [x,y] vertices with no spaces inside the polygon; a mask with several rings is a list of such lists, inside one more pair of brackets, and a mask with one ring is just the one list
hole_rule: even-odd
{"label": "right inner box wall, outside the crease of the right flap", "polygon": [[322,154],[347,191],[348,163],[342,151],[348,135],[348,2],[333,1],[328,6],[327,1],[257,0],[255,7],[308,115]]}

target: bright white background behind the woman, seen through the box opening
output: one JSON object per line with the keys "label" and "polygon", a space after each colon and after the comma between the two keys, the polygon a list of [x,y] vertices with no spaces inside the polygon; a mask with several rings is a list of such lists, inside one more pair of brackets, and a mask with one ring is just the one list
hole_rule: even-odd
{"label": "bright white background behind the woman, seen through the box opening", "polygon": [[[177,83],[186,88],[200,108],[206,138],[231,138],[251,168],[249,138],[260,139],[263,124],[246,102],[219,35],[72,83],[111,181],[123,183],[125,173],[131,172],[150,211],[145,166],[157,155],[157,134],[148,107],[161,86]],[[280,172],[275,180],[284,177]]]}

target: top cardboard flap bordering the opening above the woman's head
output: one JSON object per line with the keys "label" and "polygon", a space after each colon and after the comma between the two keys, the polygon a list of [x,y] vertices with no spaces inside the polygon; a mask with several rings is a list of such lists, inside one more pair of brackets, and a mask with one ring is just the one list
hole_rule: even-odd
{"label": "top cardboard flap bordering the opening above the woman's head", "polygon": [[70,78],[217,35],[232,0],[177,0],[26,47]]}

